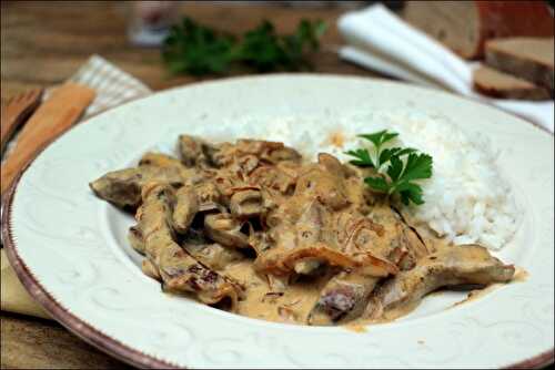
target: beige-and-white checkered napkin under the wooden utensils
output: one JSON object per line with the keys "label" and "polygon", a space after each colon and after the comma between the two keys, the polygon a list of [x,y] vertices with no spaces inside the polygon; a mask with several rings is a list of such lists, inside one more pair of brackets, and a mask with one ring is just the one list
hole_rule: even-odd
{"label": "beige-and-white checkered napkin under the wooden utensils", "polygon": [[[151,93],[151,90],[144,83],[99,55],[92,55],[69,81],[87,85],[97,92],[94,101],[83,113],[80,122],[97,113]],[[56,86],[47,89],[44,100],[49,97],[52,89],[56,89]],[[17,136],[8,145],[4,152],[6,156],[9,155],[14,142],[17,142]],[[50,318],[28,295],[11,268],[3,249],[0,253],[0,264],[1,309],[22,315]]]}

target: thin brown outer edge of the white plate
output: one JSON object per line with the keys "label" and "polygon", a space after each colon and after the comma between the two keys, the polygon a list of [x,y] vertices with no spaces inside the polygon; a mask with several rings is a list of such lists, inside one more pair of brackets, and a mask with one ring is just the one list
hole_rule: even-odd
{"label": "thin brown outer edge of the white plate", "polygon": [[[284,75],[286,73],[281,73],[279,75]],[[336,74],[327,74],[331,76],[340,76]],[[245,79],[244,76],[235,78],[235,79]],[[362,79],[360,76],[356,76],[356,79]],[[206,83],[210,81],[201,82],[201,83]],[[387,81],[392,83],[392,81]],[[402,82],[395,82],[393,83],[397,84],[403,84]],[[198,84],[198,83],[196,83]],[[416,86],[413,86],[416,88]],[[420,89],[426,89],[420,86]],[[445,92],[444,92],[445,93]],[[145,99],[150,95],[139,97],[137,100]],[[458,97],[465,97],[465,96],[460,96]],[[471,99],[465,99],[465,100],[471,100]],[[494,105],[488,105],[480,101],[471,100],[474,103],[478,103],[482,105],[486,105],[491,109],[497,110],[503,112],[504,114],[513,115],[516,116],[515,114],[511,114],[508,112],[505,112],[497,106]],[[103,112],[100,112],[103,113]],[[94,114],[95,116],[98,114]],[[527,122],[528,124],[532,124],[536,129],[539,129],[539,131],[543,131],[544,133],[546,132],[551,136],[554,134],[551,133],[548,130],[532,123],[531,121],[527,121],[521,116],[517,116],[524,122]],[[91,117],[88,117],[83,122],[89,121]],[[70,130],[68,130],[65,133],[63,133],[61,136],[65,135],[69,131],[73,130],[74,127],[79,126],[81,123],[73,125]],[[59,323],[61,323],[65,329],[71,331],[73,335],[77,337],[81,338],[89,345],[98,348],[99,350],[123,361],[127,362],[131,366],[138,367],[138,368],[154,368],[154,369],[180,369],[174,363],[167,362],[164,360],[159,360],[150,354],[143,353],[141,351],[138,351],[135,349],[132,349],[131,347],[120,342],[119,340],[109,337],[98,329],[93,328],[89,323],[84,322],[81,320],[79,317],[74,316],[71,314],[65,307],[63,307],[60,302],[58,302],[42,285],[34,278],[32,273],[29,270],[24,261],[19,257],[16,248],[16,240],[13,239],[11,235],[11,205],[13,202],[13,197],[17,192],[17,187],[19,185],[19,182],[21,177],[23,176],[24,172],[32,165],[32,163],[36,161],[36,158],[48,147],[50,146],[53,142],[56,142],[58,138],[61,136],[58,136],[53,138],[51,142],[47,143],[42,148],[40,148],[37,152],[37,156],[29,162],[18,174],[18,176],[13,179],[13,183],[6,194],[4,198],[2,199],[3,203],[3,212],[2,212],[2,218],[1,218],[1,237],[2,237],[2,243],[6,248],[6,255],[8,256],[8,260],[10,261],[11,267],[18,275],[19,280],[23,285],[23,287],[27,289],[29,295],[38,301],[44,310],[52,317],[54,318]],[[551,350],[547,350],[545,352],[542,352],[539,354],[533,356],[528,359],[522,360],[516,363],[507,364],[502,367],[502,369],[531,369],[531,368],[544,368],[551,363],[554,362],[554,356],[555,356],[555,348],[552,348]]]}

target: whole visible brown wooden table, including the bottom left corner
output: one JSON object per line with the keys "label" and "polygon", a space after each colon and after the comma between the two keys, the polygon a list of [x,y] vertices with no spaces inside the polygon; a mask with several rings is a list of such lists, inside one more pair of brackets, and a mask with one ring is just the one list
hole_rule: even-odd
{"label": "whole visible brown wooden table, including the bottom left corner", "polygon": [[[135,75],[153,90],[199,81],[170,76],[157,49],[130,45],[125,35],[127,6],[114,2],[1,2],[1,101],[31,88],[63,82],[87,59],[100,54]],[[272,21],[290,32],[302,18],[331,25],[323,51],[314,58],[315,72],[372,76],[339,60],[341,44],[335,20],[345,9],[276,6],[183,6],[193,19],[233,33]],[[127,366],[84,343],[54,321],[0,314],[1,368],[112,369]]]}

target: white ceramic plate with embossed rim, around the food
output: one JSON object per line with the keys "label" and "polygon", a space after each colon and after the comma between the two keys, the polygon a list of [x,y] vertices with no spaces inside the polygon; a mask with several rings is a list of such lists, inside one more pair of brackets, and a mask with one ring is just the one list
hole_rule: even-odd
{"label": "white ceramic plate with embossed rim, around the food", "polygon": [[[148,148],[173,145],[180,133],[232,138],[222,122],[235,120],[260,133],[261,124],[276,119],[302,129],[303,120],[353,111],[441,115],[490,136],[524,207],[517,236],[498,256],[529,277],[456,307],[464,295],[435,295],[412,315],[365,332],[249,319],[162,294],[125,241],[131,217],[88,187]],[[451,94],[359,78],[221,80],[125,104],[56,141],[19,181],[4,212],[4,240],[20,278],[47,310],[137,366],[537,366],[553,361],[553,135]]]}

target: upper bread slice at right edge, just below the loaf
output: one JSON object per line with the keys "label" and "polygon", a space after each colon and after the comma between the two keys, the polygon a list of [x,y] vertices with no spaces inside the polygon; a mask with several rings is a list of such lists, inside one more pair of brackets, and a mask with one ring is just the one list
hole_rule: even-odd
{"label": "upper bread slice at right edge, just below the loaf", "polygon": [[490,40],[485,62],[492,68],[554,90],[554,39],[507,38]]}

